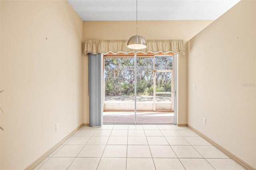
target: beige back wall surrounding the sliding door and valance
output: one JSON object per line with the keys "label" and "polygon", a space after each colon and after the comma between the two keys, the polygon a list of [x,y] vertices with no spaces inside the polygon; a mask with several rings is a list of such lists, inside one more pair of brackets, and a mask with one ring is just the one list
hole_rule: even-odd
{"label": "beige back wall surrounding the sliding door and valance", "polygon": [[[187,42],[212,21],[138,21],[138,34],[146,39],[184,39]],[[128,40],[136,34],[136,21],[84,21],[83,40]],[[178,61],[178,123],[187,123],[186,74],[187,57]],[[89,123],[88,56],[83,57],[83,123]]]}

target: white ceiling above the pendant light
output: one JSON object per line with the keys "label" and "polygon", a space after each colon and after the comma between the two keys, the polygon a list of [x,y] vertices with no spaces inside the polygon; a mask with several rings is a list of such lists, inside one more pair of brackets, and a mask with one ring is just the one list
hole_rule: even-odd
{"label": "white ceiling above the pendant light", "polygon": [[[138,20],[216,20],[240,0],[138,0]],[[136,0],[68,0],[84,21],[136,20]]]}

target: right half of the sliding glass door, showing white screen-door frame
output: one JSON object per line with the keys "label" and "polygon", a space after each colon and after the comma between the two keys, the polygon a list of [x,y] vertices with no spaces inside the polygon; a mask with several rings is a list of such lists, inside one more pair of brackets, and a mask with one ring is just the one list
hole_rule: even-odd
{"label": "right half of the sliding glass door, showing white screen-door frame", "polygon": [[136,123],[174,123],[173,56],[136,58]]}

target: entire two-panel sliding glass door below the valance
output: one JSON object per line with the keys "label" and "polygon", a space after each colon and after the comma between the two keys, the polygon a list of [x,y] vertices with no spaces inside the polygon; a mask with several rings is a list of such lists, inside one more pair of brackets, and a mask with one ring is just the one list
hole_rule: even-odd
{"label": "entire two-panel sliding glass door below the valance", "polygon": [[103,123],[174,123],[174,55],[104,56]]}

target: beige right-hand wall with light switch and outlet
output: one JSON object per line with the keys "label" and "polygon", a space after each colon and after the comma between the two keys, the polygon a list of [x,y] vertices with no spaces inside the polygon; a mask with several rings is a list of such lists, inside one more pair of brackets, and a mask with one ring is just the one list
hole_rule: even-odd
{"label": "beige right-hand wall with light switch and outlet", "polygon": [[255,23],[256,1],[241,1],[192,38],[187,50],[188,124],[254,168]]}

